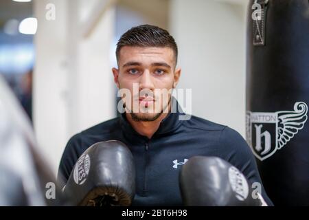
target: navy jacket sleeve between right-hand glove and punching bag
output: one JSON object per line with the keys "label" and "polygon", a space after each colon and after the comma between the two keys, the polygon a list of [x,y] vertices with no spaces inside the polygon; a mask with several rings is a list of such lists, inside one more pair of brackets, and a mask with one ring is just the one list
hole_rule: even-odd
{"label": "navy jacket sleeve between right-hand glove and punching bag", "polygon": [[[225,129],[221,131],[219,142],[220,149],[222,151],[227,151],[225,154],[227,157],[224,159],[233,166],[236,166],[236,168],[247,177],[251,184],[258,182],[261,186],[263,199],[268,206],[273,206],[273,202],[265,192],[251,148],[240,133],[226,126]],[[255,189],[255,187],[253,187],[253,189]]]}

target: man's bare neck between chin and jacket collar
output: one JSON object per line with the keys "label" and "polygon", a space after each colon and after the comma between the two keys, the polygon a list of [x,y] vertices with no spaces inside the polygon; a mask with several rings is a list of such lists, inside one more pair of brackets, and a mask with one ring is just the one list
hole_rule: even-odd
{"label": "man's bare neck between chin and jacket collar", "polygon": [[[170,107],[169,107],[170,109]],[[137,131],[140,135],[146,136],[149,139],[154,135],[154,133],[159,129],[159,126],[162,122],[162,120],[168,115],[168,113],[161,113],[159,118],[157,120],[152,122],[143,122],[143,121],[135,121],[132,118],[132,115],[130,113],[126,113],[126,119],[131,124],[133,129]]]}

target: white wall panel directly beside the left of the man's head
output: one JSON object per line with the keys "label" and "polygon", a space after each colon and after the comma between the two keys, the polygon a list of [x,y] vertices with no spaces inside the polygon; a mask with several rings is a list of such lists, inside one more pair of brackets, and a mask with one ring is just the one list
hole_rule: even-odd
{"label": "white wall panel directly beside the left of the man's head", "polygon": [[[76,0],[70,0],[76,5]],[[73,135],[84,129],[115,117],[115,85],[111,72],[111,45],[114,36],[115,8],[107,10],[100,22],[95,26],[89,37],[80,31],[84,23],[93,19],[93,10],[101,0],[79,0],[78,14],[83,25],[76,26],[69,34],[69,39],[76,43],[69,48],[70,58],[73,58],[69,73],[71,81],[71,105],[69,107],[70,130]],[[71,8],[72,8],[71,7]],[[70,12],[72,16],[74,12]],[[74,17],[71,19],[75,19]]]}

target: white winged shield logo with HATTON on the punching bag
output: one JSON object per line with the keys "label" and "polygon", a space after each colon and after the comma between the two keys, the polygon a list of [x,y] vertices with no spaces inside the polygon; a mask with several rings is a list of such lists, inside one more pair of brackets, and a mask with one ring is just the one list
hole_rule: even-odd
{"label": "white winged shield logo with HATTON on the punching bag", "polygon": [[296,102],[294,111],[247,111],[247,142],[255,157],[262,161],[285,146],[304,128],[307,113],[305,102]]}

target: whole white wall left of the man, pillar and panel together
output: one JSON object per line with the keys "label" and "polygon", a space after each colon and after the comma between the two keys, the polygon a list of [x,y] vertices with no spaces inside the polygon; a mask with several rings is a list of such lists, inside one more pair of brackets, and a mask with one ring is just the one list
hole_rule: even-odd
{"label": "whole white wall left of the man, pillar and panel together", "polygon": [[[85,39],[79,21],[87,21],[100,0],[36,0],[34,129],[38,144],[56,174],[71,135],[115,117],[115,86],[110,66],[114,9],[104,13]],[[54,3],[56,20],[45,19]]]}

